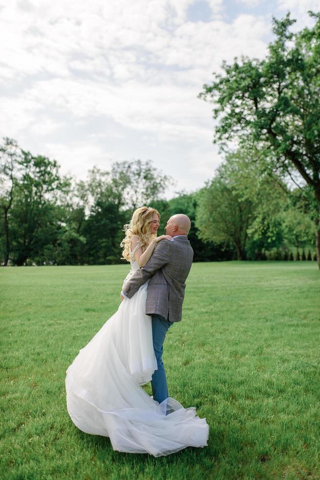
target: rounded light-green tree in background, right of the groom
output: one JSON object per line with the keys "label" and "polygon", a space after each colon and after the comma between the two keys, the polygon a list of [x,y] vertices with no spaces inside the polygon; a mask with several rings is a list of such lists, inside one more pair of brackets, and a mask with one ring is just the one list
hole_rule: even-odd
{"label": "rounded light-green tree in background, right of the groom", "polygon": [[249,239],[260,250],[269,250],[282,240],[278,215],[287,197],[286,186],[263,158],[253,162],[252,155],[245,148],[229,154],[198,194],[200,238],[231,243],[238,260],[246,258]]}

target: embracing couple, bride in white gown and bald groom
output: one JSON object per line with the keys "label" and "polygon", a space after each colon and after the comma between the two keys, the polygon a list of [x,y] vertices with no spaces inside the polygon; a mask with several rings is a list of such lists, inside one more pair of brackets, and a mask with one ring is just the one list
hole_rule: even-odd
{"label": "embracing couple, bride in white gown and bald groom", "polygon": [[[67,370],[67,408],[83,432],[110,437],[114,450],[169,455],[207,445],[206,419],[169,397],[162,362],[168,329],[182,318],[193,250],[190,220],[172,216],[157,237],[160,215],[137,209],[121,242],[131,270],[121,304]],[[142,388],[151,381],[153,397]]]}

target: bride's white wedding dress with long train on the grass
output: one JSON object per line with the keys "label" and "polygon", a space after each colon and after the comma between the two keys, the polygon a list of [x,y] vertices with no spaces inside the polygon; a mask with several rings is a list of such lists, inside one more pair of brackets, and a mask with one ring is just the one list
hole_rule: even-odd
{"label": "bride's white wedding dress with long train on the grass", "polygon": [[[133,253],[129,275],[139,268]],[[204,447],[209,427],[195,408],[170,397],[159,404],[140,387],[157,369],[152,320],[145,314],[147,287],[148,282],[123,300],[69,366],[69,415],[83,432],[110,437],[119,452],[162,456]]]}

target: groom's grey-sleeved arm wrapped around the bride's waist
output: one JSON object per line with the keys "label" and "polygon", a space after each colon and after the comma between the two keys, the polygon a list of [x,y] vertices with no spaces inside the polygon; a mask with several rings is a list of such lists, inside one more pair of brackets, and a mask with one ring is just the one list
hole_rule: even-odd
{"label": "groom's grey-sleeved arm wrapped around the bride's waist", "polygon": [[152,277],[157,270],[160,270],[160,268],[169,263],[171,246],[170,240],[160,240],[158,242],[145,266],[138,268],[126,282],[123,289],[126,297],[133,297],[141,285]]}

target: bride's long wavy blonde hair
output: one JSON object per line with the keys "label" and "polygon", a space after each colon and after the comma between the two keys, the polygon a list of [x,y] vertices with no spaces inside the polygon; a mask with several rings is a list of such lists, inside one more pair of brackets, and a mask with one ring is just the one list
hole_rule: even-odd
{"label": "bride's long wavy blonde hair", "polygon": [[153,216],[157,214],[160,220],[160,214],[158,210],[151,207],[140,207],[135,210],[130,223],[126,223],[123,226],[125,237],[120,243],[120,247],[123,247],[122,259],[130,262],[129,245],[134,235],[139,237],[141,248],[145,250],[151,240],[156,238],[155,234],[150,233],[150,224],[153,220]]}

